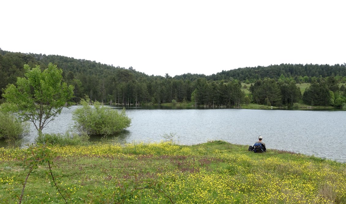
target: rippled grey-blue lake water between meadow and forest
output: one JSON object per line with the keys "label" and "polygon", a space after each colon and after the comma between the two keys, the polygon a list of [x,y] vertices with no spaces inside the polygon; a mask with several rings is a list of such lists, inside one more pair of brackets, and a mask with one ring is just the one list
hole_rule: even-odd
{"label": "rippled grey-blue lake water between meadow and forest", "polygon": [[[43,132],[65,133],[76,108],[64,109]],[[126,113],[132,123],[115,136],[120,143],[160,142],[163,134],[176,133],[186,145],[220,139],[253,145],[262,135],[267,148],[346,162],[346,111],[127,108]],[[33,143],[36,137],[31,126],[24,143]],[[2,140],[0,146],[6,143]]]}

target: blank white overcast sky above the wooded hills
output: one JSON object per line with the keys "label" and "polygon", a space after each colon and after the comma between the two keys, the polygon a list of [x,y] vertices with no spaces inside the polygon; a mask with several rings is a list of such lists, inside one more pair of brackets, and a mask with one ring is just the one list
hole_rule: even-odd
{"label": "blank white overcast sky above the wooded hills", "polygon": [[0,4],[0,48],[148,75],[346,62],[346,1],[16,1]]}

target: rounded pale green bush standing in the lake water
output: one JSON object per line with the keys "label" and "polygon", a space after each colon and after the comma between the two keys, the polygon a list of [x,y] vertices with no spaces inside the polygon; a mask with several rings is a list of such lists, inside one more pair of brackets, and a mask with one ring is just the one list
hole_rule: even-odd
{"label": "rounded pale green bush standing in the lake water", "polygon": [[89,105],[89,97],[81,100],[82,107],[73,112],[74,128],[88,135],[112,135],[131,124],[125,108],[121,111],[93,102]]}

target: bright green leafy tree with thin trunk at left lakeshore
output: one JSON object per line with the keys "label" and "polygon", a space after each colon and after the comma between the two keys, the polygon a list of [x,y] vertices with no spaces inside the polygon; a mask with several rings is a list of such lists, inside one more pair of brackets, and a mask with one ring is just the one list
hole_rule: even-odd
{"label": "bright green leafy tree with thin trunk at left lakeshore", "polygon": [[18,77],[16,85],[9,84],[2,96],[8,102],[7,111],[22,121],[31,121],[40,132],[61,113],[73,97],[73,86],[62,82],[62,70],[52,63],[41,71],[24,65],[25,77]]}

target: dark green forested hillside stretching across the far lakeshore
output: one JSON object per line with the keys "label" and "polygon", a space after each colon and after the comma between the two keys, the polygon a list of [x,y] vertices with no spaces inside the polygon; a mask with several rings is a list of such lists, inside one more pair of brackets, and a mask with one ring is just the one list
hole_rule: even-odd
{"label": "dark green forested hillside stretching across the far lakeshore", "polygon": [[[310,105],[342,106],[346,102],[346,64],[246,67],[210,76],[185,73],[179,76],[148,76],[134,68],[115,67],[71,57],[8,52],[0,49],[0,92],[17,77],[24,76],[24,64],[45,69],[52,62],[63,70],[64,81],[74,85],[74,102],[84,95],[103,103],[193,102],[195,105],[240,106],[242,103],[292,106],[303,100]],[[241,91],[241,82],[250,84],[250,94]],[[296,83],[311,83],[303,96]],[[250,85],[249,85],[250,86]],[[337,88],[336,88],[337,86]],[[319,94],[323,92],[324,95]],[[1,97],[1,96],[0,96]],[[2,99],[3,100],[3,99]]]}

